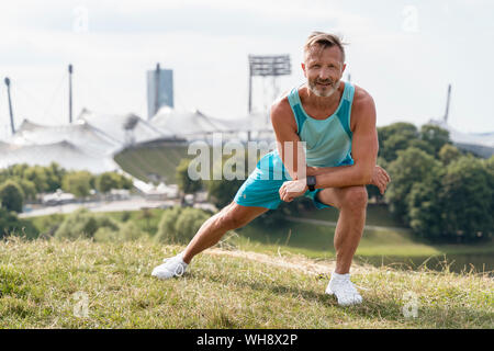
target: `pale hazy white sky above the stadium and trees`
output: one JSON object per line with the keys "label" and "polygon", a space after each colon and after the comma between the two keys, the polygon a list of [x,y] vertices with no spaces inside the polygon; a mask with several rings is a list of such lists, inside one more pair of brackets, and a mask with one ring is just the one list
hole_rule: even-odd
{"label": "pale hazy white sky above the stadium and trees", "polygon": [[[0,139],[15,125],[68,123],[74,113],[136,113],[147,118],[146,71],[173,70],[175,104],[220,118],[248,113],[248,55],[289,54],[279,92],[304,81],[302,47],[312,31],[343,36],[344,75],[374,99],[378,126],[441,118],[494,132],[494,2],[490,0],[2,1]],[[274,99],[272,79],[255,78],[254,105]]]}

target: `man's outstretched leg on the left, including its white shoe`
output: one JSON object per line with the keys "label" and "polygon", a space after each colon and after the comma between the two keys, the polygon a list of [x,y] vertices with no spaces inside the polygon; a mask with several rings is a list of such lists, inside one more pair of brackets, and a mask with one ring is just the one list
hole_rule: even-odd
{"label": "man's outstretched leg on the left, including its white shoe", "polygon": [[226,231],[245,226],[267,211],[266,207],[242,206],[232,202],[203,223],[184,251],[166,259],[165,263],[153,270],[151,275],[159,279],[182,275],[195,254],[215,245]]}

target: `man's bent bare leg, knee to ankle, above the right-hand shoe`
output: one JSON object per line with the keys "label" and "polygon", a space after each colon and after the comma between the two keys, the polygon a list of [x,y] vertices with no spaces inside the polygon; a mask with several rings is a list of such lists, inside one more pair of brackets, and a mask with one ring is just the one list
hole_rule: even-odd
{"label": "man's bent bare leg, knee to ankle, above the right-hand shoe", "polygon": [[322,203],[339,210],[334,239],[336,250],[335,272],[346,274],[350,271],[351,260],[366,225],[368,200],[366,186],[328,188],[317,195]]}

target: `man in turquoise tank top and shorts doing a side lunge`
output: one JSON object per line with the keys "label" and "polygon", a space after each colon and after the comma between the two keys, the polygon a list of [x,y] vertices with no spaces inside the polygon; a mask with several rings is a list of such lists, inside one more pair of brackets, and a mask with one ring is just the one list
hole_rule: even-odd
{"label": "man in turquoise tank top and shorts doing a side lunge", "polygon": [[[345,49],[336,35],[314,32],[308,36],[302,64],[306,82],[271,106],[277,150],[262,157],[235,200],[201,226],[184,251],[156,267],[154,276],[182,275],[192,258],[226,231],[277,208],[281,201],[304,195],[317,208],[339,210],[336,269],[326,293],[336,295],[344,306],[362,302],[349,271],[366,223],[366,184],[384,193],[390,177],[375,165],[374,102],[362,88],[341,81],[345,67]],[[287,152],[285,145],[293,145],[295,151]]]}

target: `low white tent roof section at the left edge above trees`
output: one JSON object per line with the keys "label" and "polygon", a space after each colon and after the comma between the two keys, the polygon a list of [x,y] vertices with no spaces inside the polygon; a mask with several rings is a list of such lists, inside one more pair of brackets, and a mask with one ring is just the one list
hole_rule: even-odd
{"label": "low white tent roof section at the left edge above trees", "polygon": [[7,168],[15,163],[31,166],[49,166],[57,162],[68,170],[87,170],[91,173],[100,173],[119,169],[111,157],[96,157],[86,154],[69,141],[59,141],[43,145],[0,145],[2,156],[0,168]]}

